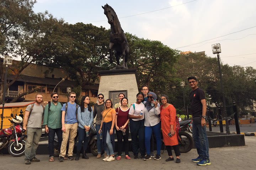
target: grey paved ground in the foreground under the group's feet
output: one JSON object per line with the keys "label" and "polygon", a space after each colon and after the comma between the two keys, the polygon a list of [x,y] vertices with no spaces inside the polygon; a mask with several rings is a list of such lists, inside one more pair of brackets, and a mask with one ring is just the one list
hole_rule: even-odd
{"label": "grey paved ground in the foreground under the group's feet", "polygon": [[165,169],[187,169],[187,170],[252,170],[256,169],[256,137],[245,136],[246,146],[241,147],[226,147],[226,148],[210,148],[210,160],[212,165],[197,166],[191,162],[192,158],[197,157],[196,149],[192,149],[188,153],[181,155],[181,163],[165,162],[167,152],[161,154],[160,160],[126,160],[124,157],[120,161],[104,162],[102,159],[97,159],[92,154],[88,154],[88,160],[80,159],[79,161],[48,162],[48,155],[37,155],[41,162],[32,162],[31,165],[25,165],[24,157],[12,157],[10,155],[0,155],[1,170],[26,169],[26,170],[165,170]]}

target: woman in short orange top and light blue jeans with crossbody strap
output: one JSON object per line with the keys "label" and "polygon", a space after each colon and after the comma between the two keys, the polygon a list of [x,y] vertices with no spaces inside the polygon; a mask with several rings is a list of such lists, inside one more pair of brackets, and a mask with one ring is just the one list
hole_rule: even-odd
{"label": "woman in short orange top and light blue jeans with crossbody strap", "polygon": [[[102,133],[102,147],[106,148],[107,157],[104,161],[112,161],[114,158],[114,124],[116,120],[116,111],[113,109],[113,103],[110,99],[105,102],[105,110],[102,113],[101,127],[98,131]],[[102,130],[101,130],[102,129]]]}

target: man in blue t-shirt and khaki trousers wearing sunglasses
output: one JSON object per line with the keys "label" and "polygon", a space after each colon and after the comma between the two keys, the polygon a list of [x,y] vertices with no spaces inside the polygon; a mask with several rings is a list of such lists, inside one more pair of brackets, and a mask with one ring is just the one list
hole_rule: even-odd
{"label": "man in blue t-shirt and khaki trousers wearing sunglasses", "polygon": [[77,120],[77,109],[78,104],[75,103],[76,94],[70,92],[69,102],[63,104],[62,106],[62,145],[60,147],[59,162],[64,161],[66,155],[66,146],[69,140],[69,149],[68,149],[68,160],[74,160],[73,158],[73,149],[75,145],[75,137],[78,129],[78,120]]}

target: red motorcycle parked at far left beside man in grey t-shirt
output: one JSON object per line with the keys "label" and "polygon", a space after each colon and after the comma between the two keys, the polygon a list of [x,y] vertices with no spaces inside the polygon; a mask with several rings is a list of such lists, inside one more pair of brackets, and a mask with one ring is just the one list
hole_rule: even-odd
{"label": "red motorcycle parked at far left beside man in grey t-shirt", "polygon": [[27,135],[25,135],[24,129],[20,125],[23,119],[20,116],[15,116],[11,114],[12,119],[8,119],[12,126],[10,128],[2,129],[0,131],[0,150],[8,148],[10,155],[14,157],[20,157],[25,153],[25,143],[24,140]]}

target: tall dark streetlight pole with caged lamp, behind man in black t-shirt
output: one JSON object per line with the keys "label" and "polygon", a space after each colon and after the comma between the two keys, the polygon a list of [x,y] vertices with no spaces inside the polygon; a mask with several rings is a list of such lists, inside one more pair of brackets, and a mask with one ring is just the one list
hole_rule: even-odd
{"label": "tall dark streetlight pole with caged lamp, behind man in black t-shirt", "polygon": [[[220,56],[219,53],[221,53],[221,48],[220,48],[220,44],[213,44],[212,45],[212,51],[213,54],[217,53],[217,59],[218,59],[218,67],[219,67],[219,75],[220,75],[220,87],[221,87],[221,91],[222,91],[222,102],[223,102],[223,111],[224,111],[224,115],[225,117],[228,117],[228,114],[226,112],[226,102],[225,102],[225,96],[224,96],[224,90],[223,90],[223,83],[222,83],[222,70],[220,67]],[[226,134],[230,135],[230,130],[229,130],[229,124],[228,124],[228,118],[226,118]]]}

